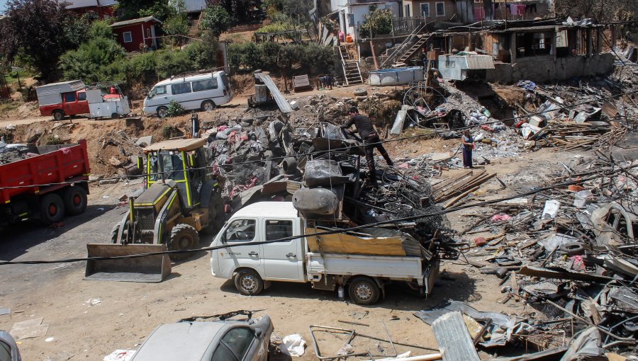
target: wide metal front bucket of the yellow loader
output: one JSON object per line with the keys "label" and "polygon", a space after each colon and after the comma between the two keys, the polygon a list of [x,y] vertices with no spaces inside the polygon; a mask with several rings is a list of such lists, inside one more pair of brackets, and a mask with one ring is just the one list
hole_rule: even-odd
{"label": "wide metal front bucket of the yellow loader", "polygon": [[[165,244],[89,243],[89,258],[130,256],[140,253],[167,251]],[[86,261],[84,280],[162,282],[171,274],[171,260],[167,254],[135,258],[116,258]]]}

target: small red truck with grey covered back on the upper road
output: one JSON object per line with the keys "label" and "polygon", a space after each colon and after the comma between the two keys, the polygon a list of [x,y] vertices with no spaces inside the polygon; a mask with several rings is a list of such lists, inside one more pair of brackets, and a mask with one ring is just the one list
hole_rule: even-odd
{"label": "small red truck with grey covered back on the upper road", "polygon": [[89,114],[84,88],[84,83],[79,80],[38,86],[35,91],[38,93],[40,115],[53,115],[55,120],[62,120],[66,115]]}

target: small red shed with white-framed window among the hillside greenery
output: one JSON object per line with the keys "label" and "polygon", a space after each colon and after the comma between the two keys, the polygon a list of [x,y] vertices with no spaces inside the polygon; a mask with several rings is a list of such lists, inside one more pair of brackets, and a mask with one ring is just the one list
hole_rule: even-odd
{"label": "small red shed with white-framed window among the hillside greenery", "polygon": [[157,49],[157,33],[162,21],[152,16],[113,23],[111,28],[117,40],[128,52],[140,50],[140,45]]}

